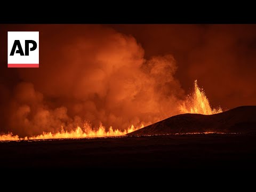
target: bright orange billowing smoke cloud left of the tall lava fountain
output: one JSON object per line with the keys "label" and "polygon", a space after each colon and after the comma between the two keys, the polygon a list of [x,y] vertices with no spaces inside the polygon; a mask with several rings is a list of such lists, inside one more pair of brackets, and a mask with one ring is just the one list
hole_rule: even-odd
{"label": "bright orange billowing smoke cloud left of the tall lava fountain", "polygon": [[39,69],[19,69],[5,105],[8,131],[22,136],[90,121],[114,129],[179,114],[185,92],[172,55],[146,60],[136,39],[105,26],[34,26]]}

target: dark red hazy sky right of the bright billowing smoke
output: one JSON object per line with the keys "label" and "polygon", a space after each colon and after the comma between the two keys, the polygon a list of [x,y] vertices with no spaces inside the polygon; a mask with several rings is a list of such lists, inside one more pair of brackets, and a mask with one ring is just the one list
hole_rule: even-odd
{"label": "dark red hazy sky right of the bright billowing smoke", "polygon": [[145,58],[171,53],[187,92],[197,79],[213,106],[256,105],[256,25],[111,25],[133,34]]}

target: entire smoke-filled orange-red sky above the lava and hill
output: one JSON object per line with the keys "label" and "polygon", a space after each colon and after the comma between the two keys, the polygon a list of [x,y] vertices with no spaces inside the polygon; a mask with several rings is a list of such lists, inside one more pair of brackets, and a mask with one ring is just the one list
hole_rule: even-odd
{"label": "entire smoke-filled orange-red sky above the lava and hill", "polygon": [[[3,131],[51,131],[79,118],[107,126],[155,122],[178,113],[195,79],[213,107],[256,104],[256,25],[0,28]],[[7,68],[7,31],[15,30],[39,31],[38,69]]]}

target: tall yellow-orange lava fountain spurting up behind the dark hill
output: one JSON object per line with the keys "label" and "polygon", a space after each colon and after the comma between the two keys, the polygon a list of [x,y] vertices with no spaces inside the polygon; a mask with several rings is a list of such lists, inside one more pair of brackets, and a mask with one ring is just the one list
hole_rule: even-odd
{"label": "tall yellow-orange lava fountain spurting up behind the dark hill", "polygon": [[180,107],[181,114],[203,114],[212,115],[222,113],[221,107],[212,108],[209,100],[207,99],[203,89],[199,88],[197,81],[194,82],[194,91],[191,95],[188,95],[185,102]]}

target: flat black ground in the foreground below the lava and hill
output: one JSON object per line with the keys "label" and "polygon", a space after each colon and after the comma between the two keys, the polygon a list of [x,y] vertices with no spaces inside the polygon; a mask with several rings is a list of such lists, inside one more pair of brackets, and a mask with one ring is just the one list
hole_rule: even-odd
{"label": "flat black ground in the foreground below the lava and hill", "polygon": [[256,134],[0,142],[3,167],[256,168]]}

